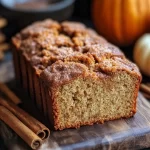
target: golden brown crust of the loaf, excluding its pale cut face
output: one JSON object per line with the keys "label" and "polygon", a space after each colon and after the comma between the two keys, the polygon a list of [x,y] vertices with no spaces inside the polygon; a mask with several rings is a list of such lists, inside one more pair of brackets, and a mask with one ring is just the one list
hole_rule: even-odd
{"label": "golden brown crust of the loaf, excluding its pale cut face", "polygon": [[[49,19],[25,28],[12,39],[12,42],[16,52],[22,54],[26,60],[30,94],[35,89],[35,95],[32,97],[36,98],[37,105],[43,107],[42,109],[45,114],[48,114],[49,119],[54,121],[56,129],[63,129],[58,122],[59,109],[55,101],[56,91],[61,85],[69,83],[79,76],[106,79],[116,72],[125,71],[136,77],[139,82],[136,83],[134,93],[135,105],[129,116],[136,112],[136,98],[141,82],[137,66],[127,60],[119,48],[108,43],[92,29],[88,29],[81,23],[63,22],[59,24]],[[16,54],[14,56],[16,58]],[[34,76],[37,77],[37,80],[31,81]],[[47,91],[44,90],[45,87]],[[42,90],[39,91],[40,96],[37,98],[36,92],[40,88]],[[46,99],[46,104],[51,107],[48,112],[46,112],[43,99]],[[117,118],[120,117],[122,116]],[[66,127],[79,127],[103,121],[105,119],[77,123],[73,126],[68,124]]]}

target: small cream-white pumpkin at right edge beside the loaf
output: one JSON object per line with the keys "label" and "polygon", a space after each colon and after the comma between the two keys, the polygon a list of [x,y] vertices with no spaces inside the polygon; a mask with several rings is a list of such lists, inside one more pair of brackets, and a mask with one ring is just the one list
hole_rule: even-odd
{"label": "small cream-white pumpkin at right edge beside the loaf", "polygon": [[150,76],[150,34],[144,34],[136,42],[133,58],[143,74]]}

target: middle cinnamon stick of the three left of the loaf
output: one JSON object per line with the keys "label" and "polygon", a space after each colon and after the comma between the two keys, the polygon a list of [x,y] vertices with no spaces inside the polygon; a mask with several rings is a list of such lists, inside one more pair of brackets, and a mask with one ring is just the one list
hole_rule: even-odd
{"label": "middle cinnamon stick of the three left of the loaf", "polygon": [[45,140],[49,137],[50,131],[45,125],[30,116],[27,112],[16,106],[14,103],[0,98],[0,105],[6,107],[9,111],[11,111],[18,119],[20,119],[20,121],[22,121],[41,139]]}

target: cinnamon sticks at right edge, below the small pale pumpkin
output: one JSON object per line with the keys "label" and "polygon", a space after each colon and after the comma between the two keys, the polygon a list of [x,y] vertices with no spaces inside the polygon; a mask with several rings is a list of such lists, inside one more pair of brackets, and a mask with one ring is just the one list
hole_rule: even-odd
{"label": "cinnamon sticks at right edge, below the small pale pumpkin", "polygon": [[140,91],[145,98],[150,99],[150,83],[142,83],[140,85]]}

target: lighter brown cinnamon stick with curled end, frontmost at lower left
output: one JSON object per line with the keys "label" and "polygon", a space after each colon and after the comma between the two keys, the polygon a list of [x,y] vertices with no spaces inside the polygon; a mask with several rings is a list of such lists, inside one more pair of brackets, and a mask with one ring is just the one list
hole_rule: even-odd
{"label": "lighter brown cinnamon stick with curled end, frontmost at lower left", "polygon": [[32,149],[41,146],[42,140],[4,106],[0,106],[0,119],[12,128]]}

